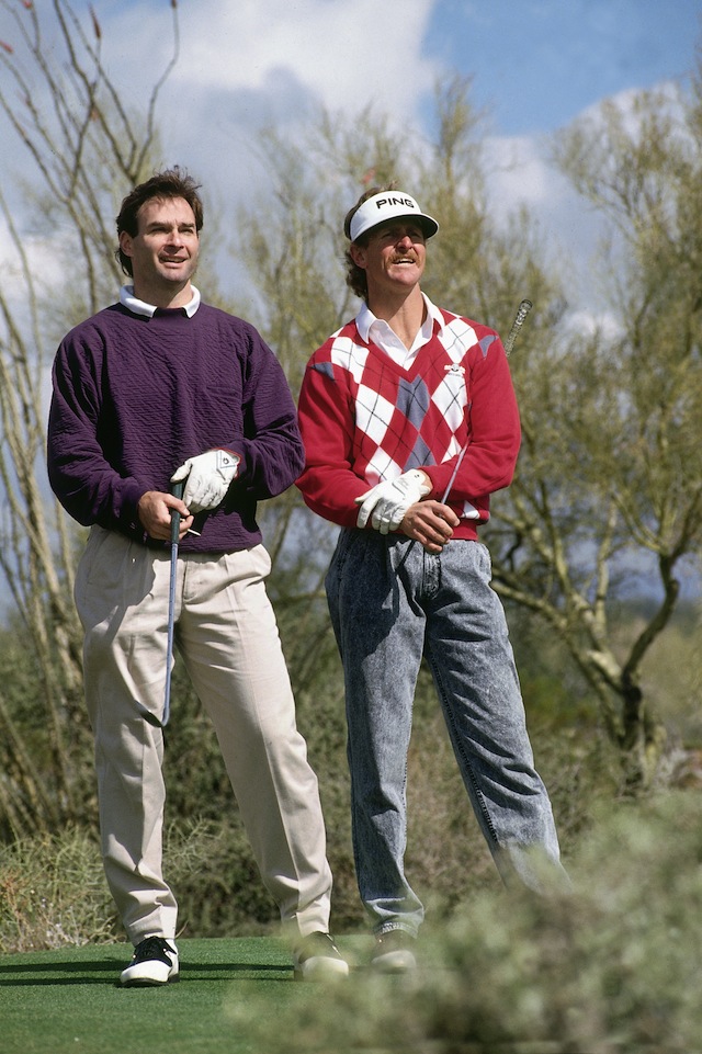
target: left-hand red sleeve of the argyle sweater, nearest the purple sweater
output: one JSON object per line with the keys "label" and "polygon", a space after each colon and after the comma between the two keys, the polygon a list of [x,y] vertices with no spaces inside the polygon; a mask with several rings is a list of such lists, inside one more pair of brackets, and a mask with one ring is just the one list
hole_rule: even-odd
{"label": "left-hand red sleeve of the argyle sweater, nearest the purple sweater", "polygon": [[369,489],[353,464],[353,410],[341,371],[310,359],[299,393],[299,426],[305,468],[297,479],[305,503],[340,526],[355,526],[355,498]]}

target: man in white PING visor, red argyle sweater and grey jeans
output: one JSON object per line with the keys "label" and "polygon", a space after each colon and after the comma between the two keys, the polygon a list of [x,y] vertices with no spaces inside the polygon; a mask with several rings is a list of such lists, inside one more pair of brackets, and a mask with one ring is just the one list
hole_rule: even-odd
{"label": "man in white PING visor, red argyle sweater and grey jeans", "polygon": [[498,335],[421,292],[438,229],[404,192],[360,199],[344,231],[347,281],[363,304],[312,356],[299,397],[297,486],[342,529],[326,589],[344,669],[359,889],[373,963],[388,972],[416,964],[423,919],[404,868],[422,656],[502,879],[540,892],[568,881],[478,540],[489,495],[512,479],[517,400]]}

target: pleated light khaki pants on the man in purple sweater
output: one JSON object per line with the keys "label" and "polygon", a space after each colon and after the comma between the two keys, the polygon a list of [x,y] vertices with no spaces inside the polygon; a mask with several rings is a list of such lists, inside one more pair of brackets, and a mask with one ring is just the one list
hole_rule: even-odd
{"label": "pleated light khaki pants on the man in purple sweater", "polygon": [[[262,545],[180,555],[176,639],[211,717],[267,888],[292,940],[327,930],[331,873],[317,779],[264,580]],[[127,937],[172,938],[177,903],[161,871],[162,713],[170,551],[93,526],[78,568],[84,687],[95,739],[105,874]]]}

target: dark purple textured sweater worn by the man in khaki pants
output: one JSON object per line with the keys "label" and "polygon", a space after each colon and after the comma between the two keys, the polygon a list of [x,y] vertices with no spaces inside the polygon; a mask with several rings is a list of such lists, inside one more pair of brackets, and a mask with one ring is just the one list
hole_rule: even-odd
{"label": "dark purple textured sweater worn by the man in khaki pants", "polygon": [[304,466],[295,404],[283,370],[248,322],[201,304],[152,318],[113,304],[61,341],[53,371],[48,475],[79,523],[161,547],[137,502],[170,490],[188,457],[216,446],[241,457],[223,503],[195,518],[185,552],[224,553],[261,541],[256,503],[281,494]]}

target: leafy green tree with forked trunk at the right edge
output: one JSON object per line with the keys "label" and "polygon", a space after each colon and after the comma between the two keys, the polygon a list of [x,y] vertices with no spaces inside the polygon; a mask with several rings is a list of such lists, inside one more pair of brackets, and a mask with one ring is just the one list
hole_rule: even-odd
{"label": "leafy green tree with forked trunk at the right edge", "polygon": [[[526,338],[514,359],[524,445],[499,506],[498,588],[570,650],[633,785],[652,780],[665,744],[644,660],[702,540],[701,115],[698,78],[690,100],[607,103],[556,143],[608,225],[615,327]],[[615,646],[612,600],[642,568],[655,603]]]}

